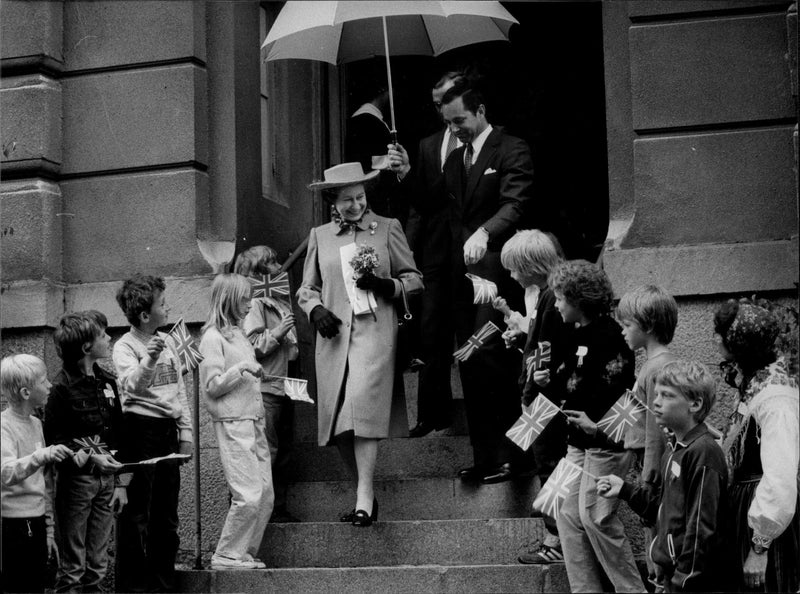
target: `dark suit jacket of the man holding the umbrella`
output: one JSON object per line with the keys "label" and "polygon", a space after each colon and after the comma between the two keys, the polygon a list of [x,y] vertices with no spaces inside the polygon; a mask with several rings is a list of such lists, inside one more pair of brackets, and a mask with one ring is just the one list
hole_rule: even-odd
{"label": "dark suit jacket of the man holding the umbrella", "polygon": [[494,280],[504,276],[500,250],[516,232],[533,197],[533,160],[525,141],[494,128],[466,179],[464,150],[450,153],[443,172],[451,263],[463,269],[464,242],[484,227],[489,232],[487,253],[469,271]]}

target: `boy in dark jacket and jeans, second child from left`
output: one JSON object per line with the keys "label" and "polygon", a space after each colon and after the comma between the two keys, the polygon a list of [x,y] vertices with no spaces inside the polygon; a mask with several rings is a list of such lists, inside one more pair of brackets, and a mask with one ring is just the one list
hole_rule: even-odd
{"label": "boy in dark jacket and jeans, second child from left", "polygon": [[64,367],[47,400],[44,434],[48,444],[75,450],[57,465],[56,592],[100,589],[114,514],[128,501],[131,476],[115,476],[122,466],[110,453],[119,448],[122,435],[117,380],[98,365],[111,356],[107,326],[99,311],[67,313],[53,333]]}

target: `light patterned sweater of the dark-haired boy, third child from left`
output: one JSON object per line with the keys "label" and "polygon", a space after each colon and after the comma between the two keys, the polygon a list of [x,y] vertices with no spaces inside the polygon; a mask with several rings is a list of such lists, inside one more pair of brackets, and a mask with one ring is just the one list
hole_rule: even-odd
{"label": "light patterned sweater of the dark-haired boy, third child from left", "polygon": [[114,345],[114,366],[124,413],[175,419],[180,441],[192,441],[192,421],[180,356],[165,334],[166,346],[156,361],[147,354],[152,335],[135,327]]}

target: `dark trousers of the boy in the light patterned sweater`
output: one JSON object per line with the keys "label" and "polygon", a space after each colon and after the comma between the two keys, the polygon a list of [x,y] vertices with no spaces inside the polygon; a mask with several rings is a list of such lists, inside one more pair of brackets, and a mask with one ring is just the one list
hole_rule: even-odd
{"label": "dark trousers of the boy in the light patterned sweater", "polygon": [[[175,419],[128,413],[124,433],[125,461],[178,451]],[[180,467],[159,462],[134,469],[128,504],[117,524],[116,588],[119,592],[174,592]]]}

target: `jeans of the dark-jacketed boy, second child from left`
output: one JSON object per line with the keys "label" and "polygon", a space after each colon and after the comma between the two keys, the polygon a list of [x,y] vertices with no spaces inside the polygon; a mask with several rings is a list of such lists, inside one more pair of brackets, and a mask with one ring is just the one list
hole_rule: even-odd
{"label": "jeans of the dark-jacketed boy, second child from left", "polygon": [[60,562],[56,592],[97,592],[108,569],[114,475],[62,470],[57,492]]}

